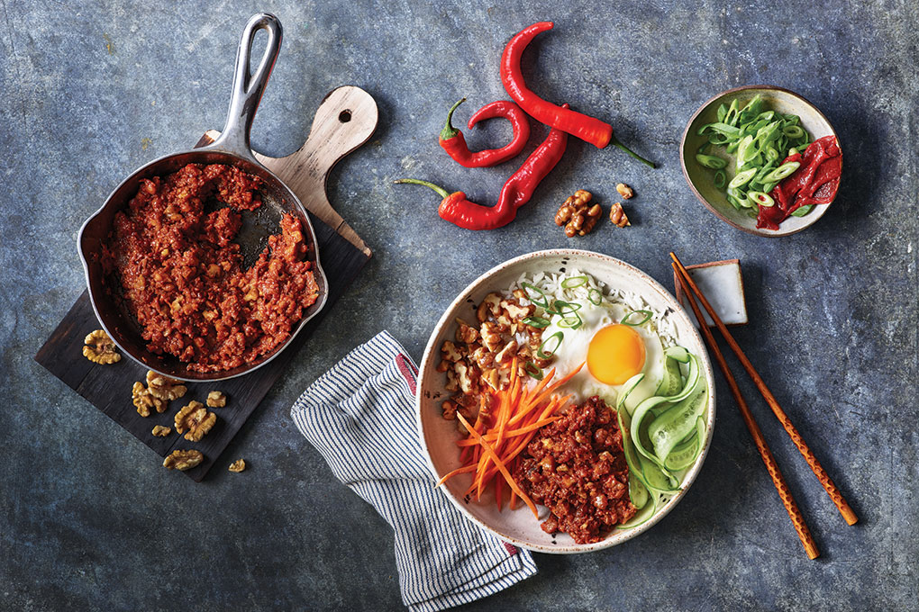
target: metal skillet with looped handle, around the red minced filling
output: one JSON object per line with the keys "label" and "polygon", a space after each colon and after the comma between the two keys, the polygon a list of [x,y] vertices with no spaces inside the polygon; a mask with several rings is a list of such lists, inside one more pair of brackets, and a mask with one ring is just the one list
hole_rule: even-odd
{"label": "metal skillet with looped handle, around the red minced filling", "polygon": [[[267,31],[267,47],[253,76],[249,71],[249,60],[255,32],[260,29]],[[105,205],[99,208],[92,217],[86,219],[83,228],[80,228],[77,245],[96,317],[121,351],[142,365],[166,376],[184,381],[217,381],[250,373],[277,357],[306,322],[325,305],[328,283],[319,263],[316,235],[313,232],[310,217],[297,196],[274,173],[255,161],[249,145],[249,131],[255,118],[255,109],[262,99],[275,60],[278,59],[280,44],[281,25],[277,17],[263,13],[250,18],[243,30],[239,51],[236,54],[230,110],[227,113],[226,125],[223,127],[220,138],[207,147],[167,155],[142,166],[119,184],[108,196]],[[285,213],[290,213],[301,220],[304,228],[303,236],[309,247],[307,258],[312,262],[312,272],[315,275],[316,284],[319,285],[319,297],[312,306],[306,309],[299,325],[291,332],[287,341],[257,361],[246,363],[233,370],[214,373],[193,372],[188,370],[187,363],[179,362],[172,355],[156,355],[148,351],[147,343],[141,337],[141,328],[137,320],[130,316],[124,306],[120,305],[120,300],[113,299],[109,293],[105,274],[98,261],[98,254],[102,252],[102,243],[108,238],[115,213],[127,206],[129,200],[137,194],[140,181],[176,172],[188,163],[223,163],[260,177],[264,182],[259,190],[263,204],[254,212],[243,213],[243,227],[236,237],[236,241],[242,247],[244,267],[248,267],[257,259],[258,254],[267,245],[267,237],[278,232],[281,217]],[[119,288],[113,287],[112,289],[118,290]]]}

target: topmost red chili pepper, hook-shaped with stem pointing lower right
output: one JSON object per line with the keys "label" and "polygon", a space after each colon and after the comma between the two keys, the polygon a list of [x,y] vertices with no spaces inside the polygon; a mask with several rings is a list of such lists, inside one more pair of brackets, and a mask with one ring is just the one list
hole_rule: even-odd
{"label": "topmost red chili pepper, hook-shaped with stem pointing lower right", "polygon": [[540,21],[518,32],[507,43],[505,52],[501,56],[501,81],[505,84],[507,94],[521,108],[527,111],[530,117],[535,118],[537,121],[552,128],[568,132],[572,136],[591,143],[598,149],[603,149],[607,144],[612,143],[619,149],[629,153],[636,160],[654,168],[652,161],[644,159],[619,142],[613,134],[613,127],[607,122],[569,110],[567,106],[556,106],[543,100],[528,88],[523,78],[523,72],[520,70],[520,58],[523,55],[523,50],[540,32],[545,32],[553,28],[554,25],[551,21]]}

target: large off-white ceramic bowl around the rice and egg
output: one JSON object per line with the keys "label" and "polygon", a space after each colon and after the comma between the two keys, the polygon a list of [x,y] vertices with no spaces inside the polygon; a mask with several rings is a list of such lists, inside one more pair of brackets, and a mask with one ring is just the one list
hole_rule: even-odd
{"label": "large off-white ceramic bowl around the rice and egg", "polygon": [[465,501],[462,495],[471,484],[469,474],[460,474],[441,487],[453,505],[482,529],[516,546],[532,551],[560,554],[598,551],[631,540],[651,529],[683,498],[686,489],[696,479],[705,461],[715,424],[715,381],[712,377],[709,356],[698,330],[691,323],[686,311],[676,302],[675,297],[650,276],[628,263],[586,250],[542,250],[505,261],[482,274],[463,289],[440,317],[437,327],[434,328],[427,342],[425,356],[421,362],[415,406],[421,443],[430,468],[439,480],[441,476],[460,466],[456,441],[460,440],[461,435],[457,430],[456,421],[445,420],[441,416],[440,408],[443,401],[452,394],[444,388],[445,375],[436,370],[437,363],[440,362],[440,347],[443,341],[453,339],[456,333],[455,319],[460,317],[467,321],[475,320],[473,308],[482,302],[485,295],[492,291],[504,291],[511,284],[516,283],[523,274],[556,273],[572,268],[592,274],[610,288],[623,289],[641,295],[654,310],[668,312],[668,317],[671,317],[674,322],[678,343],[699,356],[706,381],[709,384],[710,394],[709,405],[705,413],[708,426],[706,440],[697,461],[690,466],[683,478],[682,491],[658,508],[656,514],[647,522],[634,529],[614,529],[605,540],[594,544],[576,544],[566,533],[558,533],[554,537],[545,533],[539,528],[540,523],[549,517],[549,510],[545,507],[539,506],[540,519],[538,521],[526,506],[518,507],[513,511],[505,507],[499,512],[494,503],[494,496],[486,498],[483,495],[481,503]]}

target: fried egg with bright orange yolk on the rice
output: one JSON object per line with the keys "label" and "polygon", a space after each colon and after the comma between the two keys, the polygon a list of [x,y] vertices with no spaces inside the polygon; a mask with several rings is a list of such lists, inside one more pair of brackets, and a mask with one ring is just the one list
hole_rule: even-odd
{"label": "fried egg with bright orange yolk on the rice", "polygon": [[562,342],[550,365],[556,369],[557,378],[586,362],[584,368],[565,384],[565,393],[572,394],[578,401],[599,395],[607,404],[615,405],[625,383],[642,373],[641,383],[626,398],[626,407],[634,410],[641,400],[655,395],[664,379],[664,348],[648,324],[620,324],[630,310],[618,304],[604,301],[595,305],[588,300],[572,300],[571,303],[580,305],[576,312],[582,324],[575,329],[566,328],[565,317],[557,315],[542,333],[543,339],[562,334]]}

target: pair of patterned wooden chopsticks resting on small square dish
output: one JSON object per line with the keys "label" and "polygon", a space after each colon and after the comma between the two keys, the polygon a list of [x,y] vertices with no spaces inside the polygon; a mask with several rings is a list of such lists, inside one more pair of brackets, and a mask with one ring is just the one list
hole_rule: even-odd
{"label": "pair of patterned wooden chopsticks resting on small square dish", "polygon": [[737,385],[737,381],[734,380],[734,377],[731,373],[731,370],[728,369],[727,362],[724,361],[724,355],[721,354],[721,351],[718,347],[718,342],[715,341],[715,337],[711,332],[711,329],[705,322],[705,317],[703,317],[701,311],[699,310],[696,299],[702,303],[702,306],[708,311],[711,320],[714,321],[715,326],[721,332],[721,335],[727,341],[728,346],[731,347],[734,354],[737,356],[737,359],[740,360],[743,365],[743,369],[750,375],[753,379],[756,388],[759,389],[759,392],[766,399],[766,404],[772,408],[773,414],[776,415],[778,421],[782,424],[782,427],[785,428],[785,431],[789,434],[791,441],[798,448],[798,451],[804,456],[804,459],[808,462],[808,465],[811,467],[811,471],[817,476],[817,479],[820,481],[820,484],[823,484],[823,489],[826,490],[826,493],[830,495],[830,499],[833,500],[834,505],[839,510],[839,513],[845,518],[845,522],[849,525],[855,525],[858,521],[856,513],[849,507],[846,503],[843,494],[839,492],[839,489],[836,488],[836,485],[833,483],[833,480],[823,469],[823,466],[817,461],[817,458],[814,456],[810,448],[808,448],[807,443],[801,438],[798,429],[795,428],[791,423],[788,415],[785,414],[785,411],[782,410],[782,406],[778,405],[775,395],[772,395],[772,392],[769,391],[769,388],[766,386],[766,383],[760,377],[759,373],[753,367],[753,363],[747,359],[746,355],[743,354],[743,351],[740,348],[740,345],[737,344],[737,341],[733,339],[731,332],[728,331],[728,328],[725,327],[724,323],[721,321],[717,313],[715,313],[714,308],[709,304],[709,300],[706,299],[705,295],[702,294],[701,290],[698,288],[698,285],[695,281],[692,280],[692,277],[689,276],[689,273],[686,271],[686,267],[683,265],[683,262],[676,257],[675,253],[671,251],[670,257],[674,260],[674,272],[676,273],[676,278],[678,279],[680,286],[683,288],[683,293],[686,294],[686,300],[689,302],[689,306],[692,308],[693,313],[696,315],[696,320],[698,321],[699,328],[702,331],[702,335],[705,338],[706,342],[709,344],[712,354],[715,356],[715,361],[718,362],[720,366],[721,373],[724,374],[724,378],[728,383],[728,387],[731,389],[731,393],[734,396],[734,400],[737,402],[737,406],[741,410],[741,416],[743,417],[743,422],[746,424],[747,429],[750,431],[750,435],[753,437],[754,444],[756,445],[756,450],[759,451],[760,457],[762,457],[763,462],[766,463],[766,470],[769,475],[772,477],[773,484],[776,485],[778,491],[778,496],[782,498],[782,504],[785,505],[785,509],[789,513],[791,522],[795,526],[795,530],[798,532],[798,537],[801,540],[801,544],[804,545],[804,551],[807,552],[807,556],[811,559],[816,559],[820,556],[820,551],[817,550],[817,544],[813,541],[811,537],[811,531],[807,527],[807,523],[804,522],[804,517],[801,515],[798,504],[795,503],[794,497],[789,491],[788,484],[785,483],[785,478],[782,476],[781,471],[778,469],[775,458],[772,456],[772,452],[769,451],[769,446],[766,444],[766,439],[763,437],[763,432],[760,430],[759,425],[756,423],[756,419],[753,416],[753,413],[750,412],[750,407],[747,406],[746,401],[743,399],[741,394],[740,387]]}

